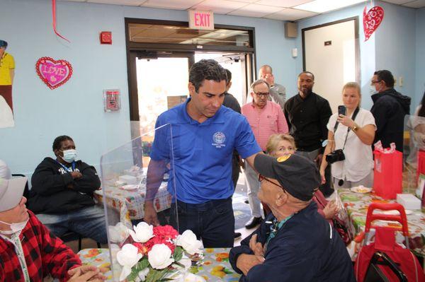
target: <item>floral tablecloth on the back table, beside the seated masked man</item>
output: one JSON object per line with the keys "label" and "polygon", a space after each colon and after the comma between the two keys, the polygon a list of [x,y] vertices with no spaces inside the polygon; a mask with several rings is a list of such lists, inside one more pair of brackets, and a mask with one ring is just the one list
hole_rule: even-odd
{"label": "floral tablecloth on the back table, beside the seated masked man", "polygon": [[[164,211],[171,206],[171,194],[166,189],[166,182],[162,182],[154,199],[157,211]],[[128,222],[131,219],[142,219],[145,216],[145,192],[130,191],[119,187],[108,187],[105,191],[108,206],[120,212],[120,221]],[[97,201],[103,202],[103,191],[94,192]]]}

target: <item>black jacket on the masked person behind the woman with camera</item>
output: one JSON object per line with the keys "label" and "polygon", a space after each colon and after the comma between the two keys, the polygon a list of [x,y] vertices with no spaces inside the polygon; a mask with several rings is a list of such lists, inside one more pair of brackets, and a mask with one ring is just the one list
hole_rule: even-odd
{"label": "black jacket on the masked person behind the woman with camera", "polygon": [[403,151],[404,116],[410,114],[410,97],[398,93],[394,88],[372,95],[375,117],[375,142],[380,140],[384,148],[395,142],[398,151]]}

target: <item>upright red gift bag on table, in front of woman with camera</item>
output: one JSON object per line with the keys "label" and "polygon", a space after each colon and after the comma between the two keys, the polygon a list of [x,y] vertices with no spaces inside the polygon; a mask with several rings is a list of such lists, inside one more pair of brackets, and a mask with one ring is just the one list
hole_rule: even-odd
{"label": "upright red gift bag on table, in front of woman with camera", "polygon": [[375,194],[384,199],[395,199],[402,193],[403,153],[382,153],[373,151],[375,167],[373,168],[373,189]]}

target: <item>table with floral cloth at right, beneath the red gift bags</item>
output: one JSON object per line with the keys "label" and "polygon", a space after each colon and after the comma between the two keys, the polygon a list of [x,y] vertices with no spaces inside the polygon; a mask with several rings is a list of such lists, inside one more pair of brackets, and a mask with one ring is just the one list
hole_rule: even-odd
{"label": "table with floral cloth at right, beneath the red gift bags", "polygon": [[[372,192],[356,193],[350,189],[338,189],[339,199],[341,199],[348,213],[348,223],[350,224],[351,233],[357,235],[365,229],[366,213],[368,206],[372,202],[379,203],[395,203],[395,200],[382,199]],[[425,213],[421,211],[413,211],[407,215],[409,225],[409,246],[417,255],[425,257],[425,242],[422,235],[425,235]],[[388,221],[374,221],[374,225],[391,226],[401,230],[399,223],[390,223]]]}

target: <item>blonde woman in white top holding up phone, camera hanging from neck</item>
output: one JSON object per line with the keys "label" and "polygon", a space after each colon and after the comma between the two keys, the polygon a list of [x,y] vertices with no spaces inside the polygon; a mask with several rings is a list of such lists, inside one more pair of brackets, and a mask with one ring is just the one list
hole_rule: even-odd
{"label": "blonde woman in white top holding up phone, camera hanging from neck", "polygon": [[351,188],[373,185],[372,143],[375,139],[375,118],[368,110],[360,107],[361,90],[358,83],[348,82],[342,88],[345,109],[329,118],[328,143],[325,158],[320,165],[322,183],[324,170],[331,163],[334,188]]}

